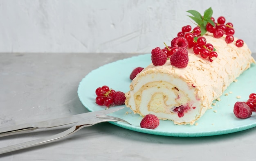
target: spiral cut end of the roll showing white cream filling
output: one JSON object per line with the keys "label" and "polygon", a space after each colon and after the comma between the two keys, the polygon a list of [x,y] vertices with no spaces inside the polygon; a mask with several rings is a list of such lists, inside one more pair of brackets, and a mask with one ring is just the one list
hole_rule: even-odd
{"label": "spiral cut end of the roll showing white cream filling", "polygon": [[[139,95],[137,95],[140,89],[141,93],[139,92]],[[172,77],[167,73],[152,73],[141,77],[133,91],[130,91],[133,99],[129,99],[129,104],[134,111],[139,109],[141,115],[151,113],[160,119],[172,120],[175,124],[184,122],[192,122],[193,124],[193,120],[196,120],[198,113],[201,113],[201,101],[196,94],[195,87],[188,85],[180,78]],[[139,102],[138,109],[136,109],[136,106],[138,106],[135,103],[136,99]],[[149,104],[150,101],[154,102]],[[150,105],[154,107],[150,108]],[[182,117],[179,117],[173,111],[175,107],[180,105],[189,108]]]}

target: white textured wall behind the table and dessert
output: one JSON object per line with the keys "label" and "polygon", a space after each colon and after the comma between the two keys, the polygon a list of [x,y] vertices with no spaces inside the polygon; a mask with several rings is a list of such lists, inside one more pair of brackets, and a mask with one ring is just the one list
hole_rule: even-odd
{"label": "white textured wall behind the table and dessert", "polygon": [[256,52],[255,0],[0,0],[0,52],[148,53],[209,7]]}

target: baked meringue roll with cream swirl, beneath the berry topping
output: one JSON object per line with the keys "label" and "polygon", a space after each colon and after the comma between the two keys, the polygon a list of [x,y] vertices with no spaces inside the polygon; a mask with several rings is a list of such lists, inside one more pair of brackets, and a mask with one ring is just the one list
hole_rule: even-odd
{"label": "baked meringue roll with cream swirl, beneath the berry topping", "polygon": [[238,48],[234,43],[227,44],[225,38],[216,39],[211,34],[204,37],[218,53],[215,60],[211,62],[188,49],[185,68],[172,66],[170,60],[162,66],[148,65],[132,80],[126,106],[141,116],[150,113],[178,125],[193,125],[200,119],[213,100],[255,63],[246,44]]}

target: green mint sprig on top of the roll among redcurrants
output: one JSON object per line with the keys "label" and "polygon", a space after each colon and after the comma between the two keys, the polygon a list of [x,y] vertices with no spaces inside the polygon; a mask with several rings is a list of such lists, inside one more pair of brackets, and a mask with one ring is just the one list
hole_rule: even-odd
{"label": "green mint sprig on top of the roll among redcurrants", "polygon": [[198,24],[198,26],[200,26],[201,35],[204,35],[207,32],[206,25],[208,22],[213,26],[215,25],[214,22],[211,20],[211,16],[213,14],[213,10],[211,9],[211,7],[204,11],[203,16],[198,11],[195,11],[195,10],[189,10],[186,12],[190,13],[192,16],[191,15],[188,15],[188,16],[192,20],[194,20],[195,23]]}

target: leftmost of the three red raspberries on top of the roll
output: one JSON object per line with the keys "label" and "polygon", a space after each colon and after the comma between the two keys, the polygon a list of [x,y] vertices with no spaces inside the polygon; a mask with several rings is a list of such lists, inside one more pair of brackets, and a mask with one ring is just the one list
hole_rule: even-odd
{"label": "leftmost of the three red raspberries on top of the roll", "polygon": [[155,66],[164,65],[167,61],[167,55],[161,50],[161,48],[157,47],[151,52],[151,60]]}

